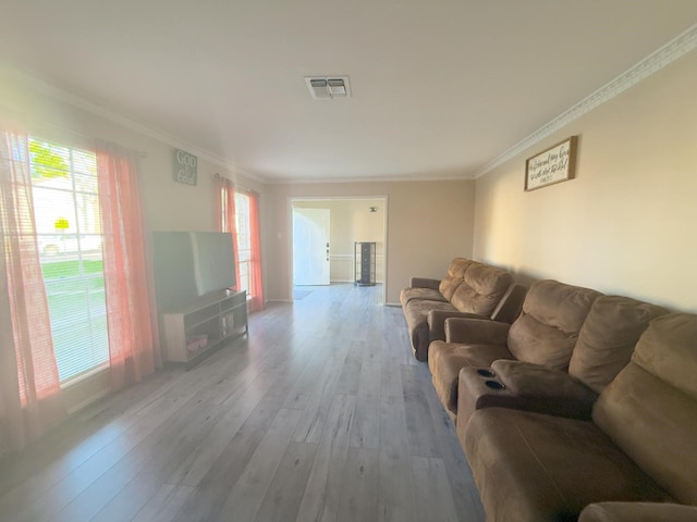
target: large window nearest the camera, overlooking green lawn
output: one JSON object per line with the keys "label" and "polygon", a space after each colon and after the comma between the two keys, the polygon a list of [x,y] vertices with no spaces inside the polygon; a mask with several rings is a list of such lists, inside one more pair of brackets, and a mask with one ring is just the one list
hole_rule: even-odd
{"label": "large window nearest the camera, overlooking green lawn", "polygon": [[29,138],[41,272],[61,383],[109,362],[94,152]]}

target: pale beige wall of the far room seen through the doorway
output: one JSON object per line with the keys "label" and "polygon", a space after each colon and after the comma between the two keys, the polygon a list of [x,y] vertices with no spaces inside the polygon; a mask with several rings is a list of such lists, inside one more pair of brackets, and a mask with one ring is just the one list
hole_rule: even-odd
{"label": "pale beige wall of the far room seen through the doorway", "polygon": [[[328,209],[330,212],[330,278],[353,282],[354,241],[376,243],[376,281],[383,283],[384,201],[382,199],[294,200],[293,208]],[[370,207],[376,211],[370,212]]]}

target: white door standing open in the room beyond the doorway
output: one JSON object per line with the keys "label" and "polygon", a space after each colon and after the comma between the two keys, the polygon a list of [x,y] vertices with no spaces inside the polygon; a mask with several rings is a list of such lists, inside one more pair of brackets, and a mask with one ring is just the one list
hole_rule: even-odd
{"label": "white door standing open in the room beyond the doorway", "polygon": [[293,209],[293,284],[329,284],[329,209]]}

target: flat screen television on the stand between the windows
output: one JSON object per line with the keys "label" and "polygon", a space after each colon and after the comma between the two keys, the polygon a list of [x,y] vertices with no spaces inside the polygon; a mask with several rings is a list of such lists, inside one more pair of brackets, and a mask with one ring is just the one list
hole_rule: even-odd
{"label": "flat screen television on the stand between the windows", "polygon": [[152,250],[160,311],[185,307],[236,284],[231,234],[155,232]]}

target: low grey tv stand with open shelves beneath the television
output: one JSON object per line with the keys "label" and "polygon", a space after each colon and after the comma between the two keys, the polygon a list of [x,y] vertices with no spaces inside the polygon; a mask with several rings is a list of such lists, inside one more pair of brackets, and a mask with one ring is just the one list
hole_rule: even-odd
{"label": "low grey tv stand with open shelves beneath the television", "polygon": [[248,334],[247,293],[222,290],[161,315],[163,353],[167,362],[185,363],[186,369]]}

